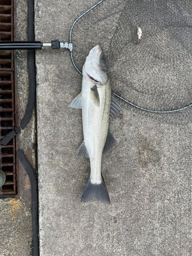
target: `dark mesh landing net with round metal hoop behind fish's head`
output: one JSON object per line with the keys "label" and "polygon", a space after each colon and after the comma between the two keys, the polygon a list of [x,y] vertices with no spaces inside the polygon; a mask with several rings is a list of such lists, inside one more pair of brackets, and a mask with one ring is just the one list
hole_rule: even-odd
{"label": "dark mesh landing net with round metal hoop behind fish's head", "polygon": [[114,93],[148,109],[188,105],[192,93],[191,7],[191,1],[181,0],[105,0],[73,28],[75,65],[82,71],[89,51],[100,44]]}

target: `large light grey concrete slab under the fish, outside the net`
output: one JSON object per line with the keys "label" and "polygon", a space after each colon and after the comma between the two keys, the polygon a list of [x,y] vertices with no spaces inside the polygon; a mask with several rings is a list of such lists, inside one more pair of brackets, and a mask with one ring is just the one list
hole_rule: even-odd
{"label": "large light grey concrete slab under the fish, outside the net", "polygon": [[[36,40],[67,41],[94,3],[36,0]],[[192,255],[191,108],[163,115],[120,102],[116,146],[102,160],[111,205],[82,204],[90,164],[75,158],[81,111],[68,109],[81,76],[65,49],[37,51],[36,67],[40,255]]]}

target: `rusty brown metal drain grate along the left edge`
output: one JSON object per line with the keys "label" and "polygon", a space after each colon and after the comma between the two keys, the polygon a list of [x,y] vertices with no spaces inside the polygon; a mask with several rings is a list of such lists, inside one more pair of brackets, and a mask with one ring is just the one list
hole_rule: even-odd
{"label": "rusty brown metal drain grate along the left edge", "polygon": [[[0,0],[0,40],[13,40],[13,0]],[[0,51],[0,139],[14,129],[14,67],[13,51]],[[6,181],[0,187],[0,196],[17,193],[16,145],[13,138],[6,146],[0,144],[0,168]]]}

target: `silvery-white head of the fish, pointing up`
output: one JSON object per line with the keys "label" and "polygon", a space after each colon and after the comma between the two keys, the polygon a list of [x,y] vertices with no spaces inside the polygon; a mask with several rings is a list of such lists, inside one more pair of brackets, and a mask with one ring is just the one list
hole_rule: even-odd
{"label": "silvery-white head of the fish, pointing up", "polygon": [[[108,79],[108,69],[104,57],[103,50],[100,45],[91,49],[84,63],[82,75],[97,86],[104,85]],[[100,85],[99,85],[100,84]]]}

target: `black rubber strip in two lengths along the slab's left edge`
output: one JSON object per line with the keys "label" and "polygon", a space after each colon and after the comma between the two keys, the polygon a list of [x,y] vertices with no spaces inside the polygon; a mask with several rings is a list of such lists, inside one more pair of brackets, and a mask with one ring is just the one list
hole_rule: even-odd
{"label": "black rubber strip in two lengths along the slab's left edge", "polygon": [[[34,41],[34,1],[28,0],[28,41]],[[29,70],[29,100],[26,113],[20,127],[22,129],[27,125],[33,105],[35,102],[36,91],[36,69],[35,69],[35,51],[28,50],[28,70]],[[31,198],[32,198],[32,228],[33,228],[33,256],[39,256],[39,239],[38,239],[38,186],[34,170],[22,150],[17,152],[19,161],[22,163],[31,182]]]}

